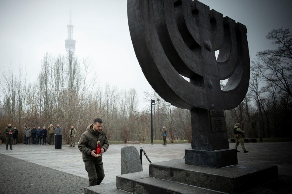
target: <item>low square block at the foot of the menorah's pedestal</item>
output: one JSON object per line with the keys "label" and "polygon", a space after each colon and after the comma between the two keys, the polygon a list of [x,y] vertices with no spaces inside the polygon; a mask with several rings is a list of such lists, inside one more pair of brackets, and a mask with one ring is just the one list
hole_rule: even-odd
{"label": "low square block at the foot of the menorah's pedestal", "polygon": [[214,151],[185,149],[186,164],[221,168],[238,164],[236,149],[220,149]]}

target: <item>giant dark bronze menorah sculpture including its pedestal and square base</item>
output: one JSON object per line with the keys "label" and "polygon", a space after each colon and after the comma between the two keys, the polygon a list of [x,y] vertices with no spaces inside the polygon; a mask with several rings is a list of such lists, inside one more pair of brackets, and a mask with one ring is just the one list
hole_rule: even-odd
{"label": "giant dark bronze menorah sculpture including its pedestal and square base", "polygon": [[[185,150],[186,163],[215,168],[237,164],[223,110],[235,108],[248,90],[245,25],[196,0],[128,0],[127,9],[146,79],[165,101],[191,112],[192,149]],[[224,79],[228,82],[221,90]]]}

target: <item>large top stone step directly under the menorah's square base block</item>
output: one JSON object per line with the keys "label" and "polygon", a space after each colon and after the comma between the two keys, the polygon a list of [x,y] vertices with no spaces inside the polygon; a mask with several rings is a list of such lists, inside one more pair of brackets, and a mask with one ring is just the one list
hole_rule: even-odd
{"label": "large top stone step directly under the menorah's square base block", "polygon": [[152,163],[149,176],[187,185],[236,193],[278,179],[276,165],[244,162],[223,168],[185,164],[184,159]]}

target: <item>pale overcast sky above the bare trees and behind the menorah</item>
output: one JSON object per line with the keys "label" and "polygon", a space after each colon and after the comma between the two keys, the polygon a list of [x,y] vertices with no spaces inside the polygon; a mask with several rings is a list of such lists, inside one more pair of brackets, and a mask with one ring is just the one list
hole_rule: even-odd
{"label": "pale overcast sky above the bare trees and behind the menorah", "polygon": [[[257,51],[271,48],[265,38],[268,32],[292,29],[291,0],[200,2],[246,25],[251,60]],[[151,86],[134,53],[126,0],[0,0],[0,70],[10,62],[17,69],[22,64],[34,82],[44,53],[65,54],[70,4],[75,55],[92,59],[101,85],[108,82],[118,89],[136,88],[143,99],[143,92]],[[139,107],[144,107],[141,100]]]}

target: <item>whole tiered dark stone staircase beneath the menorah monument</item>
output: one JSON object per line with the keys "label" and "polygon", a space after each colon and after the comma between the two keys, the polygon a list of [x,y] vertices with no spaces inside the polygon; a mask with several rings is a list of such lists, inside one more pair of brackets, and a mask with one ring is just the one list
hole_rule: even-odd
{"label": "whole tiered dark stone staircase beneath the menorah monument", "polygon": [[85,188],[85,194],[194,194],[238,193],[278,178],[278,168],[270,164],[245,162],[220,169],[187,165],[172,160],[149,165],[149,172],[116,176],[116,183]]}

